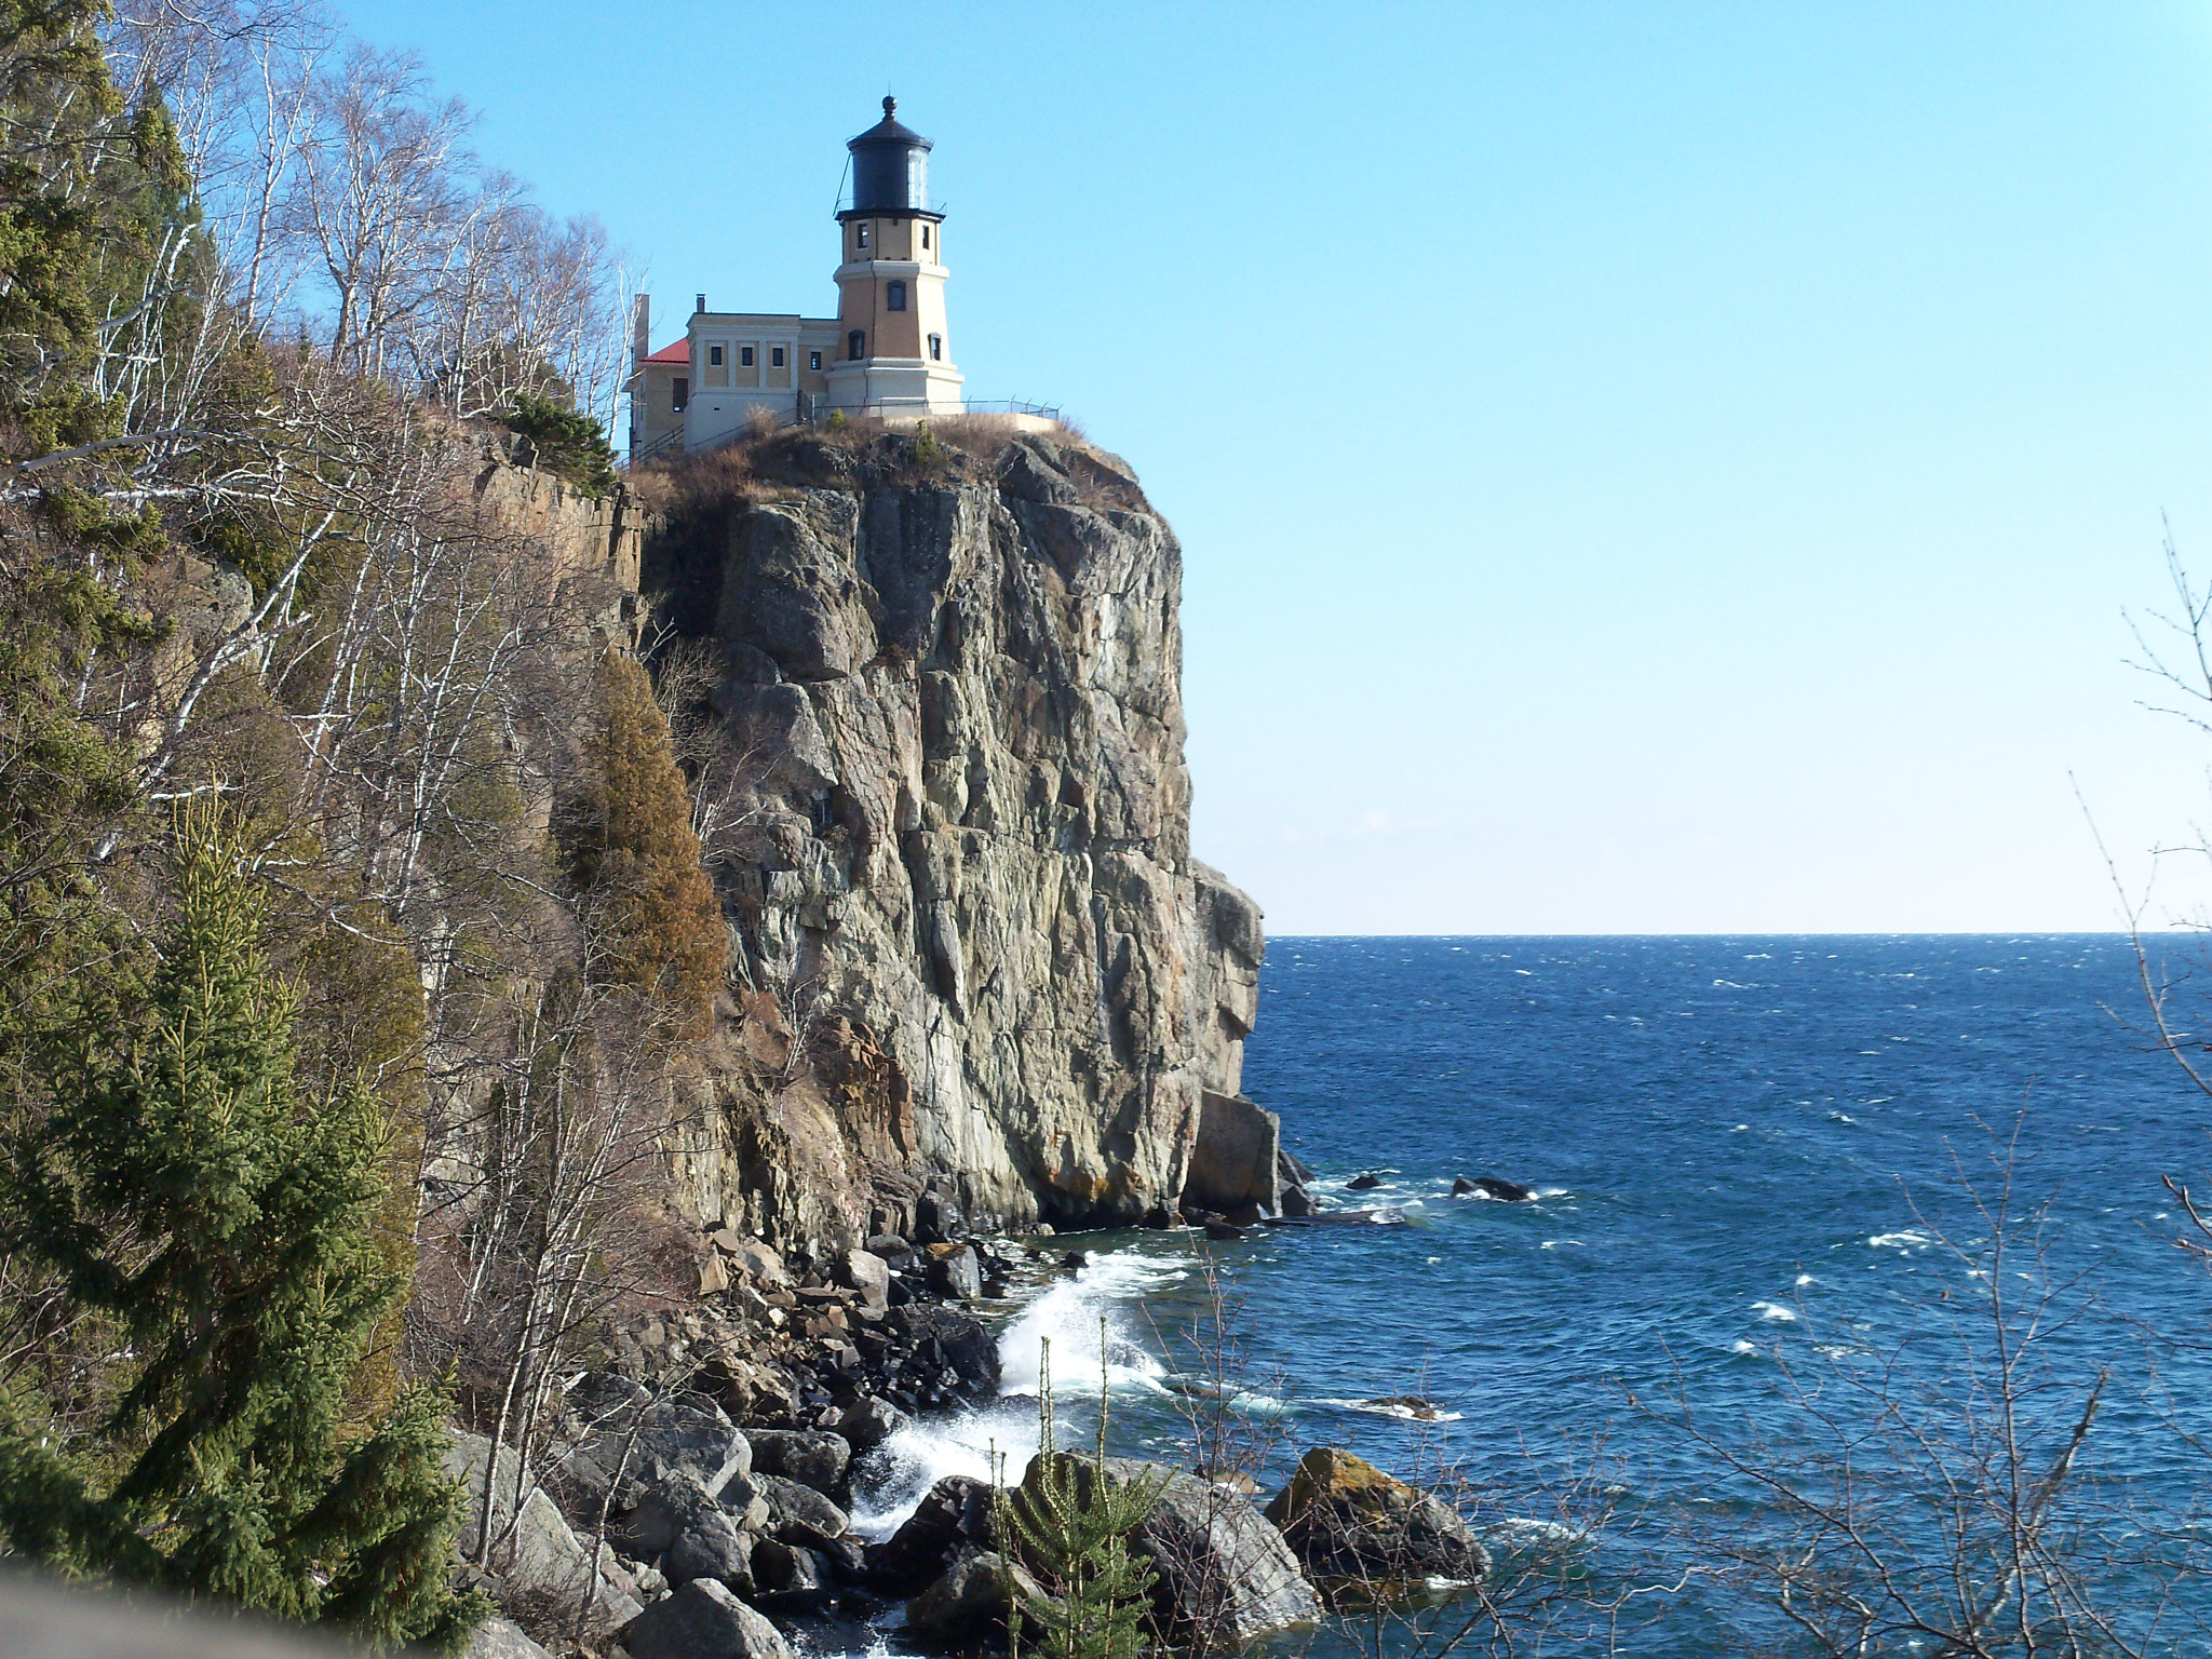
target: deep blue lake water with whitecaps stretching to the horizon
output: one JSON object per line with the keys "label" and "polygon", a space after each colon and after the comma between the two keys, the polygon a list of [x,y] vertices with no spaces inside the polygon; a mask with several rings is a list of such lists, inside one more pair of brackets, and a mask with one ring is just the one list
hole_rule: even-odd
{"label": "deep blue lake water with whitecaps stretching to the horizon", "polygon": [[[2212,1482],[2172,1429],[2212,1427],[2192,1347],[2212,1281],[2174,1248],[2159,1177],[2212,1188],[2212,1115],[2128,1022],[2117,936],[1272,940],[1245,1093],[1327,1201],[1409,1221],[1212,1248],[1245,1405],[1279,1436],[1263,1480],[1312,1444],[1387,1469],[1444,1455],[1511,1506],[1544,1469],[1601,1467],[1617,1502],[1694,1520],[1730,1482],[1628,1396],[1679,1389],[1723,1438],[1801,1433],[1776,1352],[1878,1352],[1971,1303],[1942,1239],[1973,1254],[1989,1221],[1955,1170],[1993,1194],[2017,1124],[2015,1192],[2048,1206],[2017,1283],[2048,1267],[2068,1307],[2095,1292],[2037,1347],[2055,1385],[2037,1409],[2077,1411],[2110,1367],[2095,1471],[2188,1506]],[[1347,1190],[1363,1170],[1385,1183]],[[1460,1175],[1542,1197],[1453,1199]],[[1104,1254],[1026,1303],[1009,1365],[1033,1369],[1051,1334],[1064,1396],[1086,1374],[1095,1394],[1104,1312],[1119,1449],[1190,1462],[1175,1389],[1199,1367],[1172,1332],[1199,1303],[1192,1243],[1079,1243]],[[1911,1365],[1940,1385],[1933,1356]],[[1398,1394],[1444,1420],[1360,1407]],[[1022,1409],[993,1429],[1015,1455]],[[1635,1650],[1730,1650],[1725,1619],[1688,1595]]]}

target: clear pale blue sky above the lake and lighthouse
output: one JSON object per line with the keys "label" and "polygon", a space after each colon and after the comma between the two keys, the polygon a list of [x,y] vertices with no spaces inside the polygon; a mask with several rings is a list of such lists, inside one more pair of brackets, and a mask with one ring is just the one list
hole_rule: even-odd
{"label": "clear pale blue sky above the lake and lighthouse", "polygon": [[[832,303],[936,139],[951,345],[1183,542],[1276,933],[2115,925],[2205,818],[2205,4],[352,4],[690,294]],[[2174,867],[2170,907],[2205,883]]]}

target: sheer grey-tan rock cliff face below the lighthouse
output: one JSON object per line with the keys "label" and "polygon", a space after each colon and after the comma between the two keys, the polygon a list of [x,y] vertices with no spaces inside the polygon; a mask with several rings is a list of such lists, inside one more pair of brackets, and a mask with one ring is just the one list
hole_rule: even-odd
{"label": "sheer grey-tan rock cliff face below the lighthouse", "polygon": [[931,449],[785,436],[646,542],[739,987],[699,1221],[1137,1221],[1239,1086],[1261,918],[1190,856],[1175,535],[1095,451]]}

